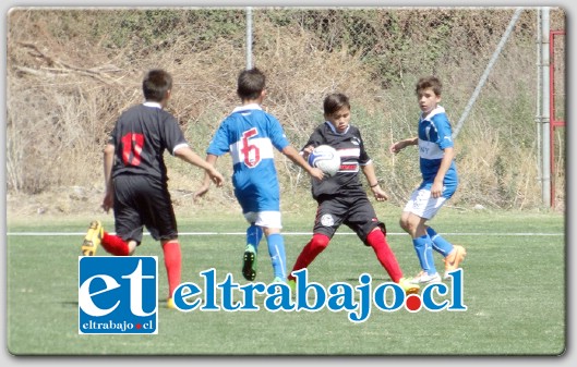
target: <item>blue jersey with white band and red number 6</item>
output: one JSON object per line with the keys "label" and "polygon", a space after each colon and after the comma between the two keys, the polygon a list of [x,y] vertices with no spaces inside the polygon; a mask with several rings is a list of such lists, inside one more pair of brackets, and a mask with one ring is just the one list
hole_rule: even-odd
{"label": "blue jersey with white band and red number 6", "polygon": [[232,157],[232,185],[242,211],[279,211],[280,191],[274,160],[289,145],[278,120],[259,105],[237,107],[211,142],[207,154]]}

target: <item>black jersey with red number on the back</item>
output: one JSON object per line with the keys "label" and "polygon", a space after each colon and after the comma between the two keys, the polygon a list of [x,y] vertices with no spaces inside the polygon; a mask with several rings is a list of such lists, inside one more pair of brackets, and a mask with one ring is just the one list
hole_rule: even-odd
{"label": "black jersey with red number on the back", "polygon": [[143,174],[166,182],[165,149],[188,145],[177,119],[159,103],[145,102],[124,111],[110,133],[115,145],[112,178]]}

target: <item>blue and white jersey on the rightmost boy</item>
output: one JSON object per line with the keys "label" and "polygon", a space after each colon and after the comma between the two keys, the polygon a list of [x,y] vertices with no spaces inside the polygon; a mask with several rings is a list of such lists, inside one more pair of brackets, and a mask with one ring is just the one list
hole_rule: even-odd
{"label": "blue and white jersey on the rightmost boy", "polygon": [[[419,157],[421,174],[424,183],[432,183],[435,180],[444,149],[454,147],[450,123],[445,109],[437,106],[425,119],[419,119]],[[450,168],[445,174],[444,184],[447,186],[457,185],[457,168],[455,161],[450,162]]]}

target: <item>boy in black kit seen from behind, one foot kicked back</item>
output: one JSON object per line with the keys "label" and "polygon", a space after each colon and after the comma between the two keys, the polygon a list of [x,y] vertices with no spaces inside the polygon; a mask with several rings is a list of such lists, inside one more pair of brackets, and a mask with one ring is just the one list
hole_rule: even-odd
{"label": "boy in black kit seen from behind, one foot kicked back", "polygon": [[172,76],[151,70],[142,89],[145,102],[124,111],[104,149],[106,194],[103,208],[115,213],[116,235],[93,221],[82,244],[83,255],[95,255],[99,244],[116,256],[132,255],[142,242],[143,227],[163,245],[168,273],[167,306],[173,308],[172,292],[180,284],[181,252],[177,220],[167,185],[165,150],[202,168],[218,186],[223,175],[187,143],[177,119],[165,111],[171,96]]}

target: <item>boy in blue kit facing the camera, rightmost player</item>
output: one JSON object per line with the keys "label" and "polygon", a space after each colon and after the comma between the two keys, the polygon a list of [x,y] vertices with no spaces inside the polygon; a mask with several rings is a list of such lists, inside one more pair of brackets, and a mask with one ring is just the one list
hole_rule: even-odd
{"label": "boy in blue kit facing the camera, rightmost player", "polygon": [[434,76],[417,82],[416,94],[421,109],[419,136],[393,144],[389,151],[398,154],[410,145],[419,146],[422,182],[412,192],[400,217],[400,227],[411,235],[422,271],[411,280],[416,284],[440,282],[433,249],[445,258],[445,274],[459,267],[467,254],[462,246],[453,245],[431,227],[431,220],[457,189],[455,149],[450,123],[440,106],[442,83]]}

